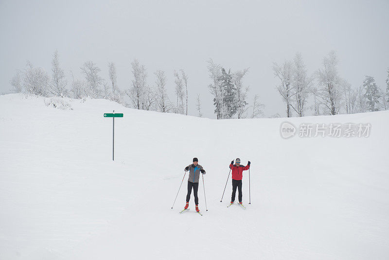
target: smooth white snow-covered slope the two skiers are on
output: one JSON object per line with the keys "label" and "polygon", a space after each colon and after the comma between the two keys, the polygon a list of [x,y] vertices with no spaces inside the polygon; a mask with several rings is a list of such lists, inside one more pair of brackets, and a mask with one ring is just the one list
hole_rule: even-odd
{"label": "smooth white snow-covered slope the two skiers are on", "polygon": [[[46,103],[48,98],[46,98]],[[285,119],[211,120],[107,100],[0,96],[0,259],[388,259],[389,112],[291,118],[370,123],[367,138],[294,136]],[[115,161],[112,161],[112,119]],[[183,168],[206,170],[203,216]],[[229,208],[231,160],[251,161]]]}

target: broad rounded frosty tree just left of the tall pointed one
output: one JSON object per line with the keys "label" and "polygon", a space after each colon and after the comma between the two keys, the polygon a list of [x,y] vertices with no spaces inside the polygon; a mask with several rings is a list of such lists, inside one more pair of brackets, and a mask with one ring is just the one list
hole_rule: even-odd
{"label": "broad rounded frosty tree just left of the tall pointed one", "polygon": [[50,77],[45,70],[34,67],[27,61],[27,67],[23,76],[23,87],[27,93],[46,96],[49,90]]}

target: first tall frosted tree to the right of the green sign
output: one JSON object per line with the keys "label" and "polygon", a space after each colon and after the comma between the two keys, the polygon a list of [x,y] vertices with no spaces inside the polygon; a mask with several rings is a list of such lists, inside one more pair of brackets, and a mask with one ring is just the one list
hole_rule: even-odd
{"label": "first tall frosted tree to the right of the green sign", "polygon": [[131,99],[135,109],[145,109],[145,93],[147,87],[147,72],[146,67],[141,65],[138,59],[131,62],[132,74],[132,88],[126,90],[125,93]]}

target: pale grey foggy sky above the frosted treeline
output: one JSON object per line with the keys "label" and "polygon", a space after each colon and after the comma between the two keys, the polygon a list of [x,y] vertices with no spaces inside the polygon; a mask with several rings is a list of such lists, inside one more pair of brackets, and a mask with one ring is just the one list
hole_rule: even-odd
{"label": "pale grey foggy sky above the frosted treeline", "polygon": [[[171,101],[173,70],[189,75],[189,114],[200,95],[205,117],[215,118],[207,60],[226,69],[249,67],[250,98],[260,94],[265,115],[285,116],[275,90],[272,63],[301,52],[308,74],[331,50],[339,74],[355,88],[371,75],[386,88],[389,67],[389,1],[11,1],[0,0],[0,93],[26,61],[51,74],[53,52],[70,88],[84,62],[92,60],[108,80],[108,62],[117,66],[121,90],[130,88],[130,63],[138,58],[155,85],[164,70]],[[310,114],[310,111],[307,111]]]}

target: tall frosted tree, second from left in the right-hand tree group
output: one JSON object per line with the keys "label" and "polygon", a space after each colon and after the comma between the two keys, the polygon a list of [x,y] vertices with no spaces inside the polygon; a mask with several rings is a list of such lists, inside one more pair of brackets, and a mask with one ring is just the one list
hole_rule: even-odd
{"label": "tall frosted tree, second from left in the right-hand tree group", "polygon": [[[312,78],[308,76],[307,69],[302,60],[301,53],[297,53],[293,60],[292,67],[292,88],[294,105],[291,105],[294,111],[301,117],[304,116],[306,100],[309,89],[311,88]],[[289,97],[291,97],[289,95]]]}

